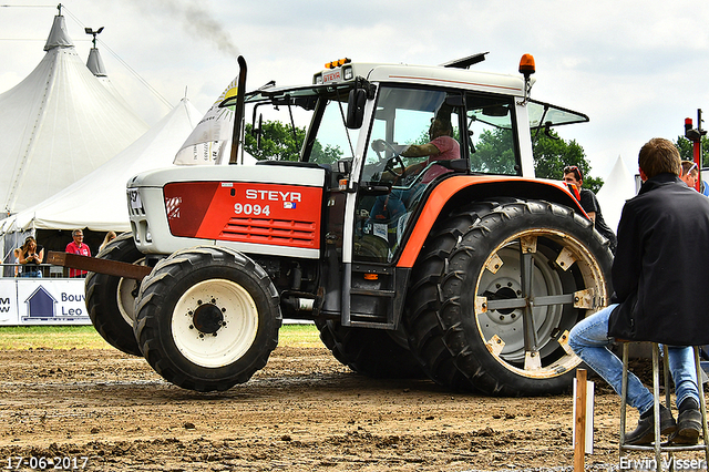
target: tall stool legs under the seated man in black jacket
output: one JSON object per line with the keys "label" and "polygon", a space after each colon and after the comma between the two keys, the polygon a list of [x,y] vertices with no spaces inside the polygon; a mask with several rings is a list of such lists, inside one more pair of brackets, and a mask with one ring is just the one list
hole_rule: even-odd
{"label": "tall stool legs under the seated man in black jacket", "polygon": [[[697,367],[697,387],[699,389],[699,408],[701,410],[702,438],[700,442],[693,445],[672,445],[668,441],[660,441],[660,373],[659,373],[659,345],[653,342],[653,396],[655,397],[655,442],[651,445],[629,445],[625,443],[625,423],[626,423],[626,402],[628,397],[628,346],[630,342],[623,342],[623,383],[620,392],[620,452],[624,451],[655,451],[655,460],[657,461],[656,471],[662,470],[662,452],[667,452],[670,471],[675,464],[671,461],[672,453],[677,451],[705,451],[706,463],[709,463],[709,444],[707,444],[707,404],[703,394],[703,384],[701,383],[701,363],[699,362],[699,347],[695,346],[695,365]],[[667,346],[662,346],[662,371],[665,374],[665,407],[671,409],[669,386],[670,376],[668,367]]]}

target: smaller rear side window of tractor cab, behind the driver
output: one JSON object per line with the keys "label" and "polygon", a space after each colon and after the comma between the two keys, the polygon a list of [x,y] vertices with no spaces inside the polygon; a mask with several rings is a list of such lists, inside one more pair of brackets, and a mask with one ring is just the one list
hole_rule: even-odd
{"label": "smaller rear side window of tractor cab, behind the driver", "polygon": [[469,93],[465,104],[471,171],[522,175],[514,135],[514,99]]}

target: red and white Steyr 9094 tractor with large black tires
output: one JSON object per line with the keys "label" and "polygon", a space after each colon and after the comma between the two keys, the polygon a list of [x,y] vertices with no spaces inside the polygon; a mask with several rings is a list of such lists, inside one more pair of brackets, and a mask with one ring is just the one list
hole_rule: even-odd
{"label": "red and white Steyr 9094 tractor with large black tires", "polygon": [[[530,98],[531,57],[521,75],[471,70],[482,58],[342,60],[307,85],[239,88],[223,103],[237,136],[245,106],[257,133],[259,111],[309,121],[298,161],[133,177],[132,234],[99,257],[145,267],[90,274],[99,332],[199,391],[261,369],[284,317],[314,320],[362,374],[566,389],[568,331],[606,305],[613,256],[564,185],[535,178],[532,140],[588,117]],[[458,151],[411,157],[440,122]]]}

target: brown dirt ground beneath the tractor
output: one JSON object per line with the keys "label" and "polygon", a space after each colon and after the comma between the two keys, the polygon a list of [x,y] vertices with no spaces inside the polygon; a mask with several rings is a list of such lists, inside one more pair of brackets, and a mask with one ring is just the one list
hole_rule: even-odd
{"label": "brown dirt ground beneath the tractor", "polygon": [[[619,463],[619,402],[602,383],[594,470]],[[279,347],[249,382],[206,394],[116,350],[0,351],[2,469],[47,458],[47,469],[96,471],[571,470],[572,421],[571,393],[500,399],[372,380],[325,348]]]}

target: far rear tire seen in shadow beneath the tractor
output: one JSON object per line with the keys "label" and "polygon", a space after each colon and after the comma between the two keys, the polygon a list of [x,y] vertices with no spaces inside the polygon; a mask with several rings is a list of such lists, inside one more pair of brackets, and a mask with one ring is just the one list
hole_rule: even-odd
{"label": "far rear tire seen in shadow beneath the tractor", "polygon": [[395,332],[372,328],[350,328],[339,321],[316,320],[322,343],[342,365],[373,379],[420,379],[421,365]]}

